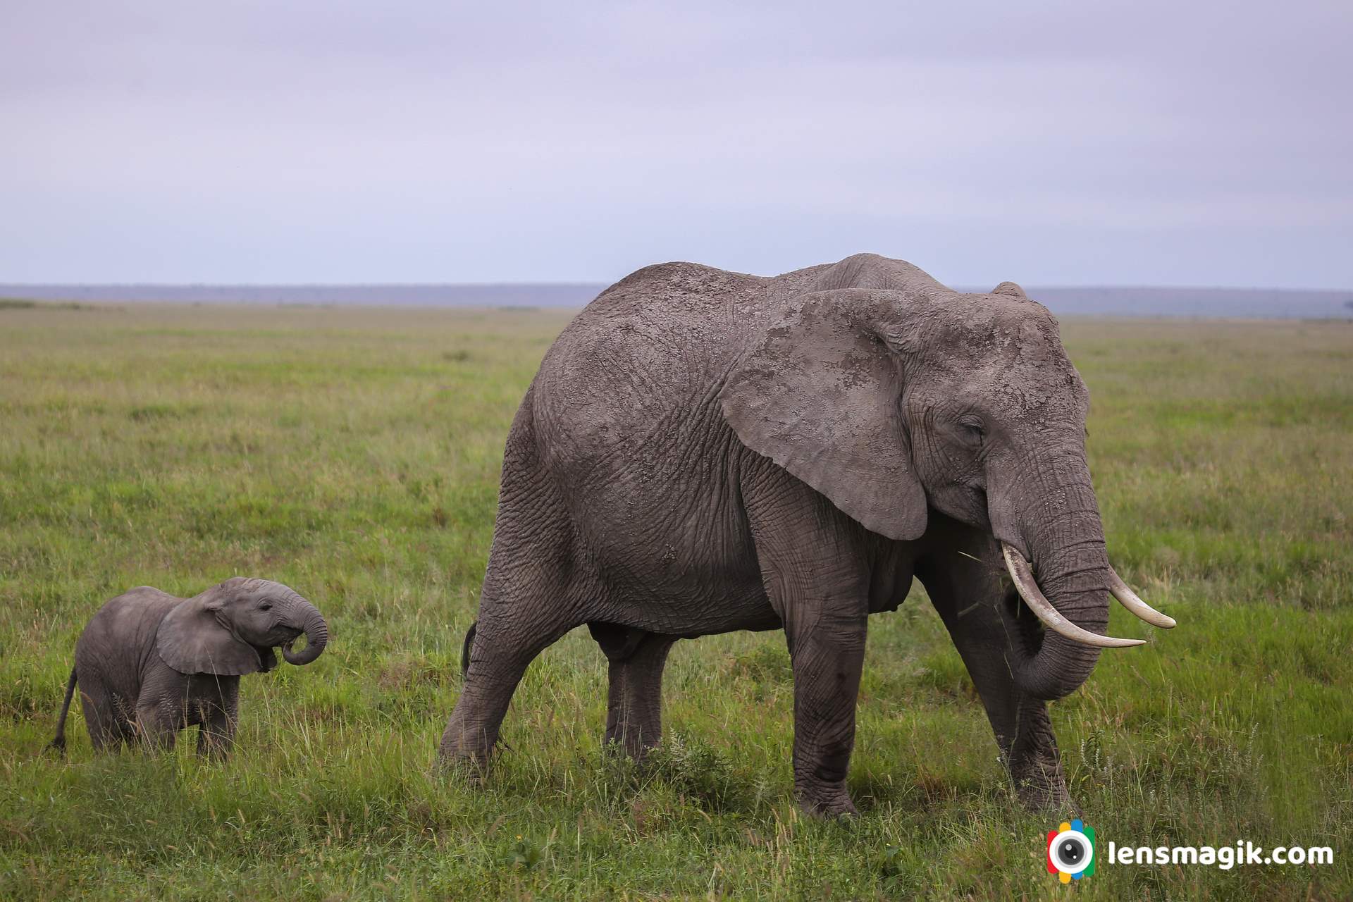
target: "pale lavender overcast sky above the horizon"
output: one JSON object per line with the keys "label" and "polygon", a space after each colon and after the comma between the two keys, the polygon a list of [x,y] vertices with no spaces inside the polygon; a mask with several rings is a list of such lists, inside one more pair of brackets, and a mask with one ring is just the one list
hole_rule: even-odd
{"label": "pale lavender overcast sky above the horizon", "polygon": [[1353,3],[0,3],[0,283],[1353,288]]}

